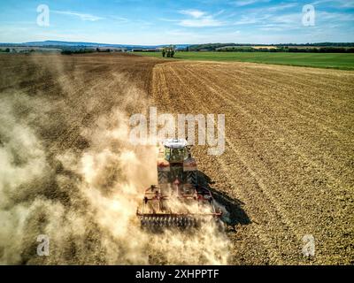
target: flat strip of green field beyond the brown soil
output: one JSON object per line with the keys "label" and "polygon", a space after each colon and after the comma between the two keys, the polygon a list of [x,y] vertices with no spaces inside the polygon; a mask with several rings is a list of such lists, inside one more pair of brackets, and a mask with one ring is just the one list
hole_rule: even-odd
{"label": "flat strip of green field beyond the brown soil", "polygon": [[[135,54],[162,58],[160,52],[136,52]],[[177,52],[174,59],[238,61],[354,70],[353,53]]]}

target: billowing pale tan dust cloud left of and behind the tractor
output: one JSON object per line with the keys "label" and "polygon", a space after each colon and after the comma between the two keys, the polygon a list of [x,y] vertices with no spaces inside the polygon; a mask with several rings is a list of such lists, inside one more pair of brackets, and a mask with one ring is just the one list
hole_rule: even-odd
{"label": "billowing pale tan dust cloud left of and behind the tractor", "polygon": [[[88,85],[61,57],[26,60],[37,73],[29,87],[2,78],[0,264],[227,264],[216,226],[148,233],[135,217],[157,182],[156,148],[128,142],[130,113],[149,106],[144,88],[113,65]],[[49,256],[36,254],[40,234]]]}

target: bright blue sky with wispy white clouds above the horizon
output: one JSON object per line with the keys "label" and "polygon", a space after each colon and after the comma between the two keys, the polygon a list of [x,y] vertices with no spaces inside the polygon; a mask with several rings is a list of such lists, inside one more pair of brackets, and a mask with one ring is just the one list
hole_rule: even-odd
{"label": "bright blue sky with wispy white clouds above the horizon", "polygon": [[[48,5],[50,26],[37,25]],[[315,25],[302,23],[315,8]],[[354,0],[8,0],[0,42],[44,40],[122,44],[354,42]]]}

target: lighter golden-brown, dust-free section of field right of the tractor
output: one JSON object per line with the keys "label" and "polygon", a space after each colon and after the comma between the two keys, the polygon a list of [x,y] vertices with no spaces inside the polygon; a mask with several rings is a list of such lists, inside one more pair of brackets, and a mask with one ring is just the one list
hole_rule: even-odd
{"label": "lighter golden-brown, dust-free section of field right of the tractor", "polygon": [[231,211],[233,264],[353,264],[354,73],[178,62],[152,88],[161,111],[226,115],[225,153],[194,153]]}

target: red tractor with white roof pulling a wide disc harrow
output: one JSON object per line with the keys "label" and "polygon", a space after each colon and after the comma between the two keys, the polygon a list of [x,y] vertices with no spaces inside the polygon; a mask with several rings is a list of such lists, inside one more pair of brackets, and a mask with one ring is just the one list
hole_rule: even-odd
{"label": "red tractor with white roof pulling a wide disc harrow", "polygon": [[145,190],[136,215],[142,227],[196,227],[221,210],[209,188],[198,182],[196,159],[184,139],[168,139],[158,150],[158,185]]}

